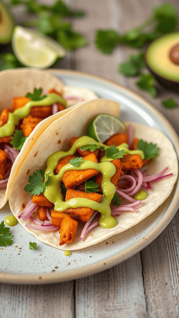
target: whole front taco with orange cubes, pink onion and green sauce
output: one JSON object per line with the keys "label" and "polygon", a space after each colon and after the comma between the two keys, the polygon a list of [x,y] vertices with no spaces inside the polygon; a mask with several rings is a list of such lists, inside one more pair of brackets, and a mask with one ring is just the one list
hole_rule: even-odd
{"label": "whole front taco with orange cubes, pink onion and green sauce", "polygon": [[[62,250],[78,250],[95,245],[138,224],[167,199],[178,176],[175,149],[170,140],[157,129],[126,122],[128,130],[131,130],[131,125],[133,129],[133,150],[128,149],[127,140],[116,145],[115,136],[104,144],[91,137],[79,137],[87,134],[89,122],[100,113],[118,116],[118,103],[109,100],[84,102],[54,121],[38,137],[11,183],[9,204],[19,223],[40,241]],[[123,133],[126,134],[126,131]],[[141,138],[144,151],[139,147]],[[73,144],[71,150],[69,143]],[[96,145],[95,151],[101,152],[113,149],[115,153],[116,148],[118,158],[115,159],[112,154],[107,156],[105,151],[98,163],[96,158],[99,158],[99,154],[96,156],[94,148],[84,148],[85,145]],[[160,155],[156,156],[159,148]],[[86,156],[87,150],[89,155]],[[82,152],[85,155],[83,159],[80,158]],[[148,154],[147,159],[144,152]],[[151,159],[151,152],[156,158]],[[74,162],[78,162],[79,166],[74,166]],[[37,182],[39,176],[40,185]],[[132,184],[129,184],[130,178],[134,180]],[[61,180],[67,188],[63,199]],[[85,187],[86,181],[90,181],[90,184]],[[37,188],[42,187],[40,194],[39,188],[33,192],[34,188],[31,187],[36,182]],[[97,185],[93,187],[91,182]],[[88,191],[85,188],[89,188]],[[99,191],[94,193],[90,191],[91,188],[98,188]],[[145,190],[147,197],[142,201],[134,199],[135,191],[141,189]],[[27,191],[30,191],[33,199]],[[121,198],[120,205],[118,196]],[[98,211],[101,212],[100,217]],[[46,213],[45,221],[41,218],[43,213]],[[84,232],[87,233],[85,236]]]}

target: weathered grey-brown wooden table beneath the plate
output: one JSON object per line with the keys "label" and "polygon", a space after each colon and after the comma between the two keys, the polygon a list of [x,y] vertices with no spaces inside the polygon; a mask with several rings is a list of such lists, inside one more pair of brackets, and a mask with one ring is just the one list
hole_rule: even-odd
{"label": "weathered grey-brown wooden table beneath the plate", "polygon": [[[47,0],[48,2],[48,0]],[[123,46],[112,55],[102,55],[93,43],[98,28],[120,32],[140,24],[154,6],[165,0],[68,0],[86,16],[74,21],[75,29],[89,39],[89,45],[59,64],[114,80],[150,101],[179,132],[179,108],[165,109],[161,99],[177,93],[160,88],[151,99],[135,86],[136,79],[117,73],[118,64],[130,52]],[[178,0],[170,0],[179,11]],[[179,317],[179,213],[167,228],[143,251],[102,273],[54,285],[28,286],[0,284],[0,317],[3,318],[177,318]]]}

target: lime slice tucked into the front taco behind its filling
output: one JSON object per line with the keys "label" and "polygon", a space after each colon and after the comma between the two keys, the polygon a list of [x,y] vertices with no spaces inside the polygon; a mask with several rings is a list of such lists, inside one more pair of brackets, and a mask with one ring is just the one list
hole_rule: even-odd
{"label": "lime slice tucked into the front taco behind its filling", "polygon": [[109,114],[99,114],[89,124],[88,136],[103,143],[112,135],[125,130],[125,124],[119,118]]}

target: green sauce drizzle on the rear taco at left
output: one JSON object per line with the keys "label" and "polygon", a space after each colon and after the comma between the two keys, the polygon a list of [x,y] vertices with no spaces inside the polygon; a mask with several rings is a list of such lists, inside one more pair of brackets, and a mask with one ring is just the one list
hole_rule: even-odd
{"label": "green sauce drizzle on the rear taco at left", "polygon": [[14,110],[13,113],[9,113],[8,121],[2,127],[0,127],[0,137],[11,136],[15,130],[15,125],[18,125],[19,121],[30,114],[31,108],[34,106],[49,106],[54,103],[61,103],[67,108],[66,100],[57,94],[47,94],[47,97],[43,100],[31,100],[25,104],[25,106]]}

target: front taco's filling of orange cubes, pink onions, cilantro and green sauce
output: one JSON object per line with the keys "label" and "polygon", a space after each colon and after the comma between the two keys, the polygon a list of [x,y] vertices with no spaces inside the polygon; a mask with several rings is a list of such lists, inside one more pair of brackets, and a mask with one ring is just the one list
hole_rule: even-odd
{"label": "front taco's filling of orange cubes, pink onions, cilantro and green sauce", "polygon": [[[152,183],[173,175],[164,175],[168,167],[152,176],[147,176],[147,169],[140,171],[160,149],[152,141],[132,140],[132,125],[128,133],[112,135],[104,143],[82,136],[72,137],[69,146],[48,157],[46,171],[29,176],[24,190],[33,197],[18,216],[38,225],[25,224],[33,230],[60,228],[60,246],[73,241],[79,221],[85,223],[80,240],[96,226],[116,227],[114,216],[137,213]],[[39,221],[32,217],[36,209]]]}

